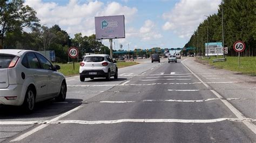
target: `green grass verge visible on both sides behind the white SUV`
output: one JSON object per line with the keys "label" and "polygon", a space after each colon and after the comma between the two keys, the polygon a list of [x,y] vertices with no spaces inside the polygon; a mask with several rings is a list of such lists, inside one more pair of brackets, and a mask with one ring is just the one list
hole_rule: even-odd
{"label": "green grass verge visible on both sides behind the white SUV", "polygon": [[[118,68],[123,68],[127,66],[133,66],[137,65],[137,62],[117,62]],[[75,62],[75,70],[73,70],[73,63],[54,63],[53,65],[59,65],[60,70],[58,70],[60,73],[64,74],[65,76],[72,76],[72,75],[78,75],[79,74],[79,62]]]}

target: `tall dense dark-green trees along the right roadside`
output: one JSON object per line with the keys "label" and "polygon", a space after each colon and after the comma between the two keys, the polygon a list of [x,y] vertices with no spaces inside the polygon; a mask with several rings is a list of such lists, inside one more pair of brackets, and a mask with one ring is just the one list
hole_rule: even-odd
{"label": "tall dense dark-green trees along the right roadside", "polygon": [[210,15],[200,23],[190,40],[184,47],[196,47],[196,53],[203,55],[205,43],[222,42],[222,8],[224,19],[224,46],[228,47],[228,55],[236,56],[233,44],[237,40],[245,42],[246,49],[243,56],[256,56],[256,1],[251,0],[224,0],[219,5],[218,12]]}

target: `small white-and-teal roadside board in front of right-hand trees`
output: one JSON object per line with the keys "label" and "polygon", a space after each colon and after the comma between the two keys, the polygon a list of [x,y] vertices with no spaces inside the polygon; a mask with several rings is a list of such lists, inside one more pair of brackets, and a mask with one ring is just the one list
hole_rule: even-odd
{"label": "small white-and-teal roadside board in front of right-hand trees", "polygon": [[[222,42],[208,42],[208,55],[223,55]],[[207,56],[207,42],[205,43],[205,56]]]}

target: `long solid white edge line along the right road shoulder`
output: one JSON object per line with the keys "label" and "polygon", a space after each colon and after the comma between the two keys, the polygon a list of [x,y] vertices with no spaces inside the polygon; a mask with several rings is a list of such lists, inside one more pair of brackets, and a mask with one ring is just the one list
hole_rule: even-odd
{"label": "long solid white edge line along the right road shoulder", "polygon": [[[185,61],[185,60],[184,60]],[[235,116],[237,116],[239,119],[242,119],[242,118],[246,118],[244,115],[242,115],[242,113],[239,111],[239,110],[237,110],[230,102],[228,102],[226,99],[224,99],[223,98],[223,96],[221,96],[217,91],[215,91],[215,90],[213,90],[213,89],[211,89],[211,87],[207,84],[207,83],[205,83],[203,80],[201,80],[201,78],[200,77],[198,77],[190,68],[188,68],[184,63],[183,63],[183,61],[181,62],[183,65],[184,65],[184,67],[186,67],[189,71],[190,71],[190,73],[192,73],[194,76],[196,76],[197,78],[198,78],[198,80],[200,81],[200,82],[202,82],[204,85],[205,85],[205,87],[207,88],[207,89],[209,89],[210,91],[212,91],[212,93],[215,95],[215,96],[217,96],[218,98],[221,98],[221,102],[223,102],[226,106],[227,106],[227,108],[228,109],[230,109],[233,113],[234,113],[234,115]],[[247,122],[243,122],[248,128],[250,128],[250,130],[254,133],[254,134],[256,134],[256,125],[254,125],[252,122],[250,122],[250,121],[247,121]]]}

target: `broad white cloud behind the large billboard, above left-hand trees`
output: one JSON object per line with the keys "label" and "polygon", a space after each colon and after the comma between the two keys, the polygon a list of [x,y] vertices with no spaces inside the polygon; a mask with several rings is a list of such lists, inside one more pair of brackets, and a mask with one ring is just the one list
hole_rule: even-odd
{"label": "broad white cloud behind the large billboard, above left-hand trees", "polygon": [[104,4],[99,1],[70,0],[66,5],[55,2],[42,2],[42,0],[26,0],[25,5],[31,6],[41,19],[41,24],[59,25],[71,35],[82,33],[91,35],[95,33],[95,16],[125,15],[125,23],[129,23],[137,13],[136,8],[121,5],[117,2]]}

